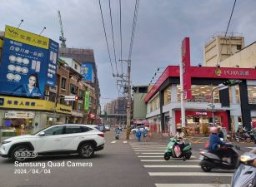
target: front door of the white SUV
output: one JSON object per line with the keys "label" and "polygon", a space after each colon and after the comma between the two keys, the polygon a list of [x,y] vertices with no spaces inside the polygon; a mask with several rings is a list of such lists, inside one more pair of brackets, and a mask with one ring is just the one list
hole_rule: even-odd
{"label": "front door of the white SUV", "polygon": [[39,136],[37,140],[38,153],[48,151],[63,150],[62,139],[63,139],[63,125],[53,126],[47,130],[43,130],[45,135]]}

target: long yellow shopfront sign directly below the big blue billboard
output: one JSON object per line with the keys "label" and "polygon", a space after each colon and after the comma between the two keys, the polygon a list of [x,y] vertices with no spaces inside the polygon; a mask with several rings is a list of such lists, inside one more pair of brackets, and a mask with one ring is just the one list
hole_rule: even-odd
{"label": "long yellow shopfront sign directly below the big blue billboard", "polygon": [[[0,109],[28,109],[33,111],[54,111],[54,103],[46,100],[19,98],[12,96],[0,96]],[[56,112],[71,114],[72,106],[58,104]]]}

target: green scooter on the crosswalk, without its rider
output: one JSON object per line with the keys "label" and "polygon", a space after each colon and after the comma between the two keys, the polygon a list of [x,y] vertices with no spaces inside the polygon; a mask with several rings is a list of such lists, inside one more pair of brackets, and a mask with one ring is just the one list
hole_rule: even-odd
{"label": "green scooter on the crosswalk, without its rider", "polygon": [[181,154],[178,156],[175,155],[175,151],[174,151],[175,146],[178,146],[178,140],[175,138],[171,138],[170,141],[168,142],[167,148],[164,153],[164,160],[169,160],[171,156],[173,158],[183,158],[183,160],[190,159],[192,155],[192,152],[191,152],[192,148],[191,148],[190,142],[185,143],[185,145],[183,146],[183,150],[180,150]]}

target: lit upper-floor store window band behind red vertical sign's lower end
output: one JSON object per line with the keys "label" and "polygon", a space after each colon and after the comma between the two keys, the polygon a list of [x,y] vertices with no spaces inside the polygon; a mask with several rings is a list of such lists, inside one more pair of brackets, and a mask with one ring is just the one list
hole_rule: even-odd
{"label": "lit upper-floor store window band behind red vertical sign's lower end", "polygon": [[[216,86],[210,85],[193,85],[191,86],[192,99],[188,102],[210,102],[211,101],[211,93],[213,88]],[[180,86],[177,85],[177,96],[178,101],[180,101]],[[218,91],[213,92],[214,103],[219,102],[219,94]]]}

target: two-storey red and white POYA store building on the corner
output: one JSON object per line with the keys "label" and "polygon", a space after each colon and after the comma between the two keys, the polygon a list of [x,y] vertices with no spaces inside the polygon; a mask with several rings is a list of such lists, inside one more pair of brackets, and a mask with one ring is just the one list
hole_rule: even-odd
{"label": "two-storey red and white POYA store building on the corner", "polygon": [[[228,131],[238,125],[250,129],[256,121],[256,70],[253,68],[224,68],[191,66],[192,99],[185,102],[188,135],[207,135],[213,125],[211,92],[223,81],[241,80],[213,92],[214,116],[217,125]],[[175,133],[181,121],[179,66],[168,66],[145,97],[147,121],[153,131],[168,130]]]}

